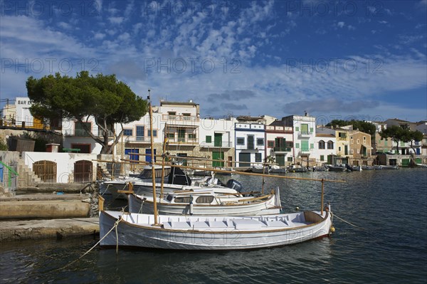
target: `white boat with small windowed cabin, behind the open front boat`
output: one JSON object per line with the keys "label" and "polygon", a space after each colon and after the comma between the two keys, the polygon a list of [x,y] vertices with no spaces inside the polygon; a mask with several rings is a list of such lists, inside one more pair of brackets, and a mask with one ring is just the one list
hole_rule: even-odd
{"label": "white boat with small windowed cabin, behind the open front boat", "polygon": [[[277,194],[243,196],[234,189],[194,189],[167,194],[157,198],[157,211],[161,215],[186,214],[206,216],[248,216],[279,214],[281,209],[279,189]],[[154,213],[154,198],[129,194],[128,208],[132,213]]]}

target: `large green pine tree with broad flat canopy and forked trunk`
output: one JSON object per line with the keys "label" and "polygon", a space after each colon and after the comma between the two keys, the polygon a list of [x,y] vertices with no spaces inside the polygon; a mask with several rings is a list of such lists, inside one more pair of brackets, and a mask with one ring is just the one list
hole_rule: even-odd
{"label": "large green pine tree with broad flat canopy and forked trunk", "polygon": [[[115,123],[139,120],[147,112],[147,102],[137,97],[125,83],[115,75],[95,76],[82,71],[75,78],[67,75],[48,75],[40,79],[32,76],[26,81],[28,98],[33,100],[30,111],[37,117],[62,117],[83,122],[92,116],[105,136],[96,137],[88,131],[96,142],[102,144],[101,153],[109,153],[108,132]],[[115,137],[119,141],[120,133]]]}

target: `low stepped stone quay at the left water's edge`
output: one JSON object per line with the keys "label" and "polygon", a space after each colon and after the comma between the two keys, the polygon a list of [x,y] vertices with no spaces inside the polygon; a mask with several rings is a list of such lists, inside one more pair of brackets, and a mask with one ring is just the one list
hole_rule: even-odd
{"label": "low stepped stone quay at the left water's edge", "polygon": [[0,242],[99,234],[90,218],[90,194],[21,194],[0,197]]}

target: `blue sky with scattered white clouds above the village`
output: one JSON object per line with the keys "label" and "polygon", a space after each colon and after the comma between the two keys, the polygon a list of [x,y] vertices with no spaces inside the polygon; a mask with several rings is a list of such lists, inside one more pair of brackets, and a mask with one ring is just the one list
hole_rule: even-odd
{"label": "blue sky with scattered white clouds above the village", "polygon": [[1,100],[115,73],[201,116],[427,120],[427,0],[0,1]]}

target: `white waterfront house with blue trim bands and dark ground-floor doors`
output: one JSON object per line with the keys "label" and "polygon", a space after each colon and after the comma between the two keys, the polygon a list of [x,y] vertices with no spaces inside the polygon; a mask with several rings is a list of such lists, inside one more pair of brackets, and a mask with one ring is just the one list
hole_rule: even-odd
{"label": "white waterfront house with blue trim bands and dark ground-floor doors", "polygon": [[265,159],[265,125],[260,123],[235,124],[236,167],[251,167]]}

